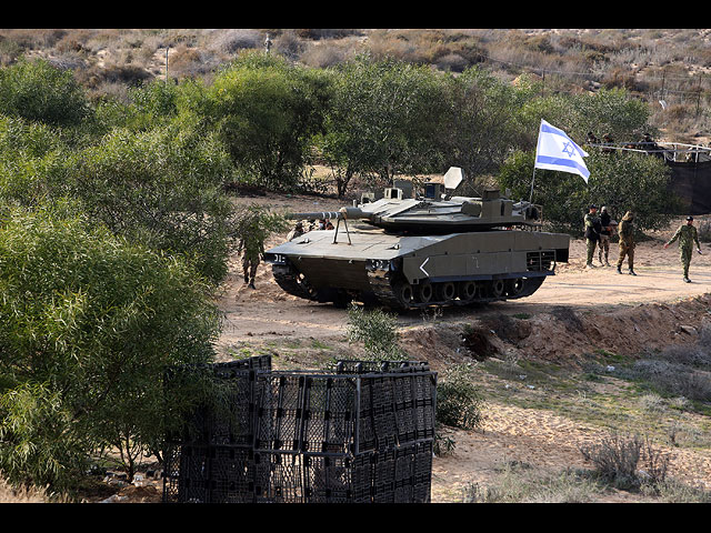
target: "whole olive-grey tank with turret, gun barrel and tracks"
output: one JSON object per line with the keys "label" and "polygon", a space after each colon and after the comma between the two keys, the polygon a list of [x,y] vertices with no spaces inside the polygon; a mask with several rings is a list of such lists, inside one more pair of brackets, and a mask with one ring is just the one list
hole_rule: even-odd
{"label": "whole olive-grey tank with turret, gun barrel and tracks", "polygon": [[568,262],[570,238],[542,231],[540,205],[498,189],[453,195],[461,181],[454,167],[421,194],[395,183],[382,198],[364,194],[334,212],[290,213],[334,221],[334,229],[303,233],[268,250],[264,261],[286,292],[317,302],[408,310],[533,294]]}

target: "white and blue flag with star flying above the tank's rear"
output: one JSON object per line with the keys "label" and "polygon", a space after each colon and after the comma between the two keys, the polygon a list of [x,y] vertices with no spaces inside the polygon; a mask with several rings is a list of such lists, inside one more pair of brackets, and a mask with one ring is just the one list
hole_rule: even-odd
{"label": "white and blue flag with star flying above the tank's rear", "polygon": [[541,119],[534,168],[579,174],[588,183],[590,171],[582,159],[587,157],[588,153],[575,144],[563,130]]}

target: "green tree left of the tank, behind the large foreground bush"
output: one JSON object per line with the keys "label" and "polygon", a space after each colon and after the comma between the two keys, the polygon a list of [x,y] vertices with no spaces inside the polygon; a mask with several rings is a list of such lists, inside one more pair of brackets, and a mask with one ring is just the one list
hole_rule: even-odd
{"label": "green tree left of the tank, behind the large foreground bush", "polygon": [[116,234],[194,261],[213,282],[227,273],[233,167],[214,135],[156,127],[117,129],[68,160],[71,198]]}

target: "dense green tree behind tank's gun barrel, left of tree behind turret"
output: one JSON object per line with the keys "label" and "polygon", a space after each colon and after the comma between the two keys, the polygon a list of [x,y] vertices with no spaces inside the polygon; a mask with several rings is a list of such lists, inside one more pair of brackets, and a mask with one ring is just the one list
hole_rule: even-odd
{"label": "dense green tree behind tank's gun barrel, left of tree behind turret", "polygon": [[242,54],[204,91],[193,88],[181,100],[220,133],[242,182],[282,190],[297,185],[328,101],[320,71],[261,53]]}

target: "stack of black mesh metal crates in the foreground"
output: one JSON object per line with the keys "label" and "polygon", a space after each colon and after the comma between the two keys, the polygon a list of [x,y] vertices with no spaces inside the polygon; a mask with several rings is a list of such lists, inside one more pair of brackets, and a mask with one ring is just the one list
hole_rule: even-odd
{"label": "stack of black mesh metal crates in the foreground", "polygon": [[213,366],[220,395],[164,451],[164,502],[430,501],[437,373],[422,362]]}

